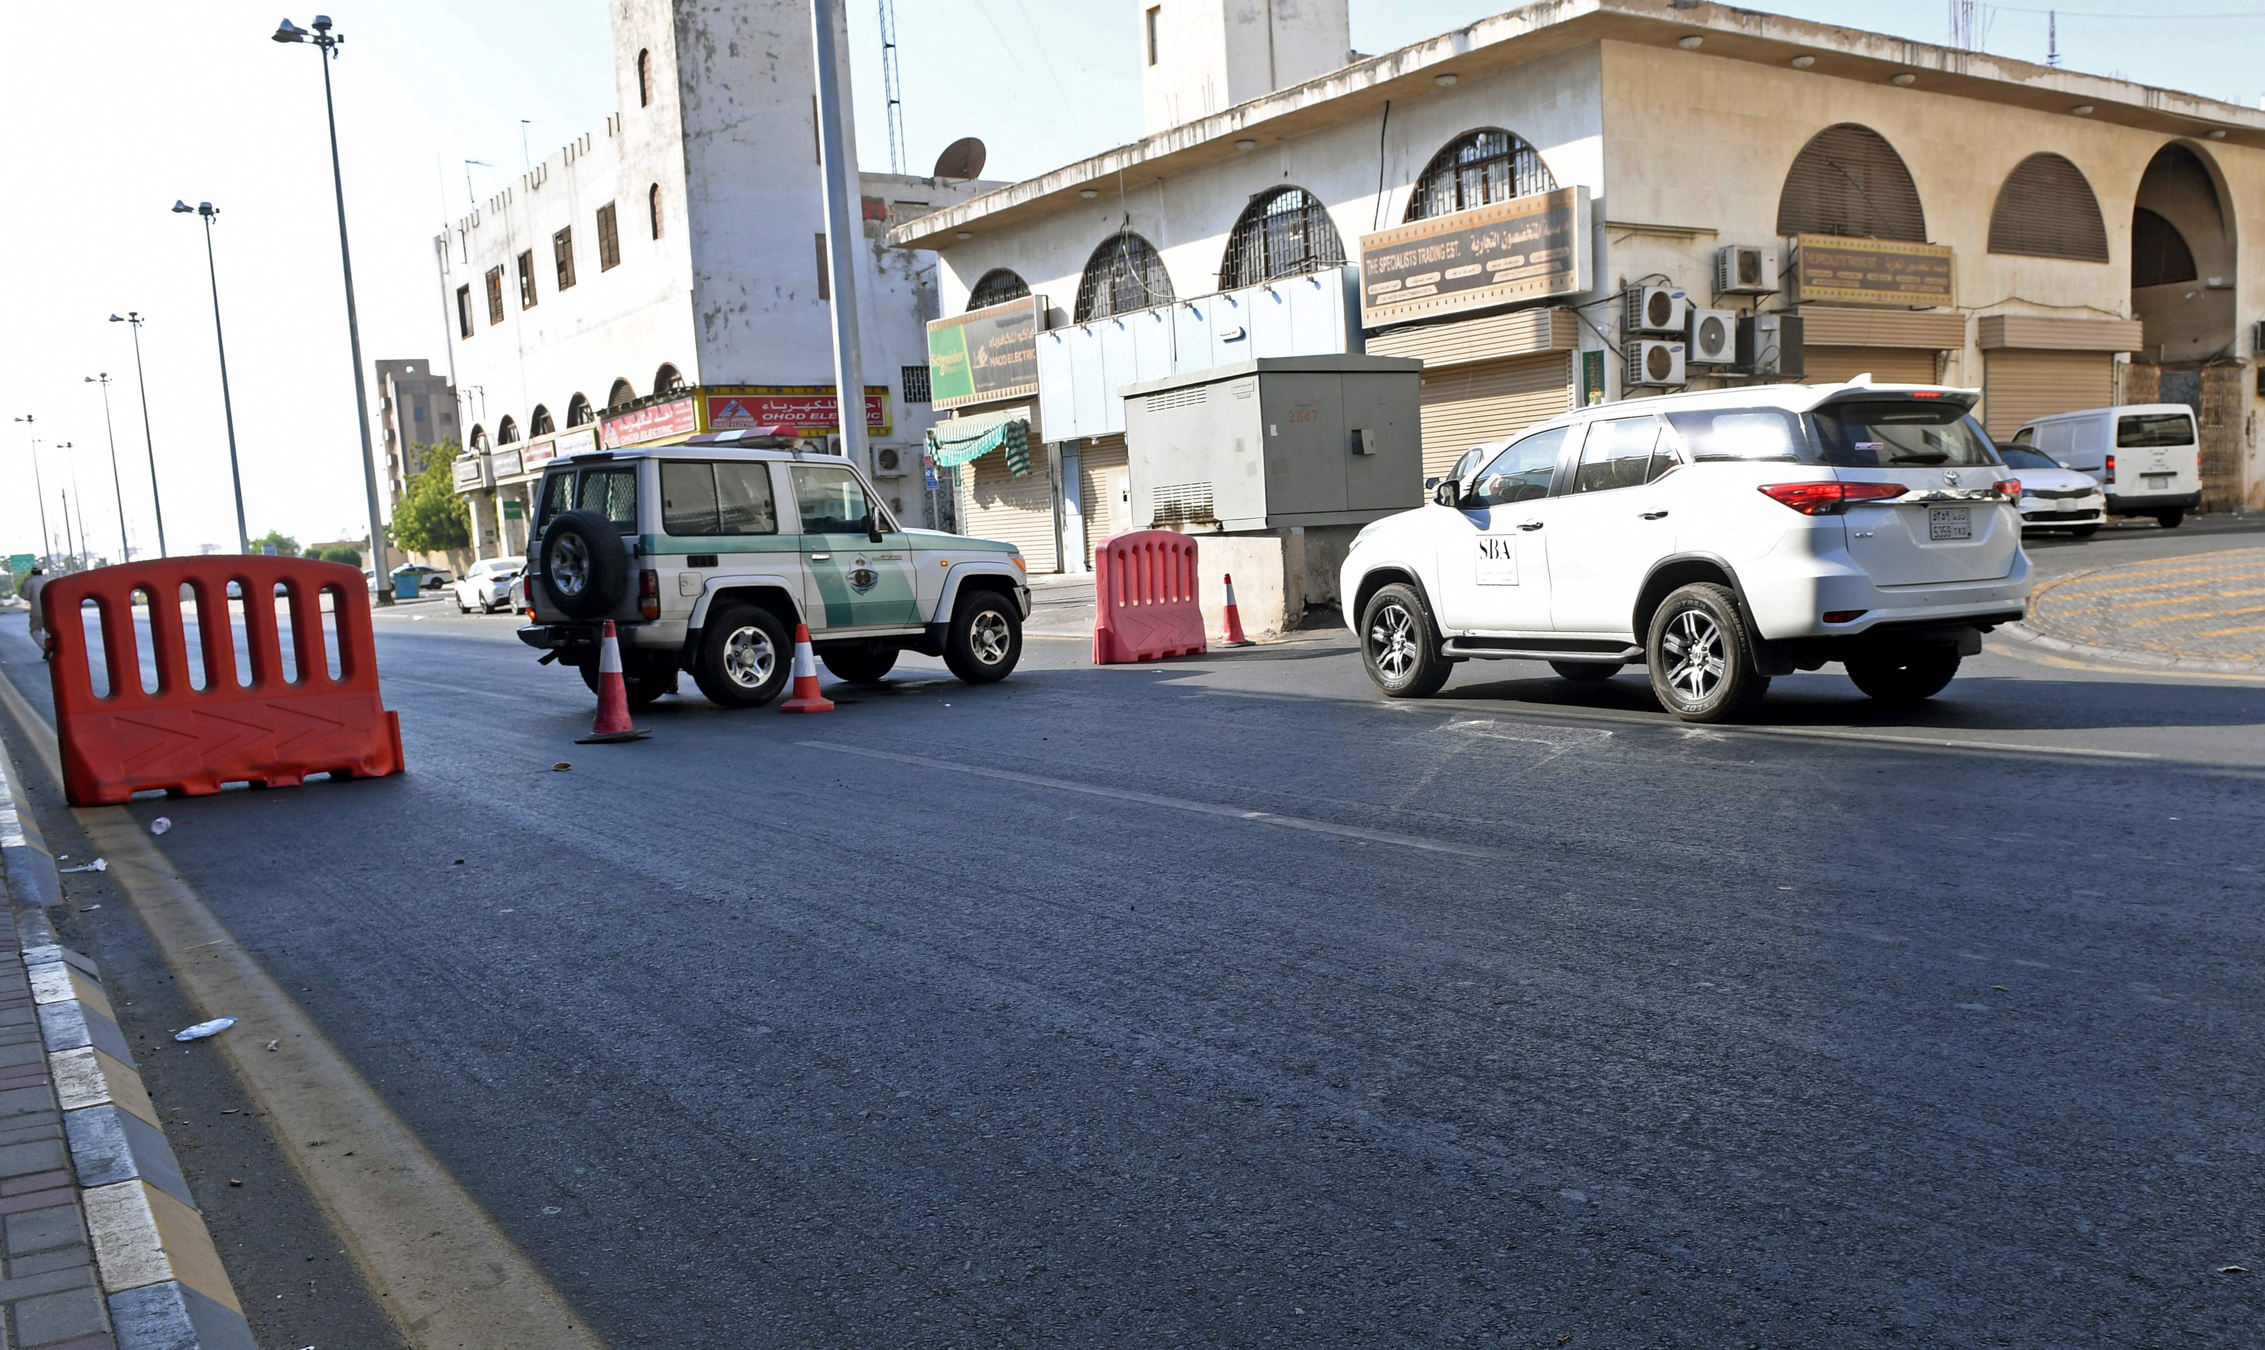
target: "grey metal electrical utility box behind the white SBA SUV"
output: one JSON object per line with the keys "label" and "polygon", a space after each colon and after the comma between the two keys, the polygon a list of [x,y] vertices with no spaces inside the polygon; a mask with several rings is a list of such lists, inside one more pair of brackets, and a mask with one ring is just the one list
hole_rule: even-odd
{"label": "grey metal electrical utility box behind the white SBA SUV", "polygon": [[1132,528],[1357,526],[1420,505],[1420,378],[1402,356],[1277,356],[1126,385]]}

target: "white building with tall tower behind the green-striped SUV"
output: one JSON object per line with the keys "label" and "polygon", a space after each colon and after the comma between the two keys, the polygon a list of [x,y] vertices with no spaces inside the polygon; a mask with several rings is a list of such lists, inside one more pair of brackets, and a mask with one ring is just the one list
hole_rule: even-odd
{"label": "white building with tall tower behind the green-striped SUV", "polygon": [[[784,419],[811,439],[838,428],[806,0],[609,9],[621,111],[442,238],[464,403],[458,489],[480,557],[525,550],[532,480],[562,442],[670,439],[711,415]],[[920,446],[935,260],[886,247],[886,231],[994,183],[861,183],[867,471],[917,526],[931,521]]]}

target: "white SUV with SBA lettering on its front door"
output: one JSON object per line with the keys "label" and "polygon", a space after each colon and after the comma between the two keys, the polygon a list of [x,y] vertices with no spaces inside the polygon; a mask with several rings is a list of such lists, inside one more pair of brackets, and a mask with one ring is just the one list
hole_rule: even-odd
{"label": "white SUV with SBA lettering on its front door", "polygon": [[1425,698],[1468,659],[1565,680],[1642,661],[1690,723],[1826,661],[1871,698],[1932,698],[2029,596],[2020,482],[1977,399],[1869,376],[1708,390],[1479,446],[1345,557],[1368,677]]}

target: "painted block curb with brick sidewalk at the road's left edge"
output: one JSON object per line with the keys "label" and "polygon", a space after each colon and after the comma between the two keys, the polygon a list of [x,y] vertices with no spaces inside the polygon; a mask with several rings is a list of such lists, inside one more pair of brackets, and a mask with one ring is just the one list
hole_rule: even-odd
{"label": "painted block curb with brick sidewalk at the road's left edge", "polygon": [[[48,922],[45,906],[61,899],[61,879],[20,800],[0,763],[0,852],[14,913],[14,931],[0,945],[16,958],[0,963],[0,1060],[5,1051],[25,1060],[0,1069],[7,1142],[0,1153],[23,1146],[18,1162],[0,1171],[36,1169],[0,1178],[5,1255],[11,1275],[16,1257],[39,1255],[48,1266],[57,1259],[50,1248],[68,1255],[88,1239],[93,1257],[70,1268],[86,1275],[68,1289],[23,1300],[0,1293],[9,1309],[0,1345],[254,1350],[251,1325],[134,1067],[102,972],[57,942]],[[9,1012],[23,1017],[9,1022]],[[18,1031],[9,1042],[7,1033]],[[54,1305],[57,1298],[75,1300]],[[57,1343],[27,1327],[34,1302],[41,1325],[52,1325],[54,1314],[82,1325]]]}

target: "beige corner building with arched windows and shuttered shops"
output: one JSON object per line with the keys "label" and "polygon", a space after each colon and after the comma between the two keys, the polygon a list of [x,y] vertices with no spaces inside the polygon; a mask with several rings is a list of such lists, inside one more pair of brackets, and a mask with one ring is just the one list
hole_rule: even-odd
{"label": "beige corner building with arched windows and shuttered shops", "polygon": [[[1268,9],[1289,11],[1280,23],[1311,32],[1275,50],[1311,59],[1343,32],[1343,0]],[[1182,16],[1144,23],[1128,59],[1210,70],[1210,48],[1234,41],[1253,39]],[[1348,270],[1361,313],[1341,349],[1427,362],[1427,473],[1574,401],[1871,371],[1984,390],[1995,435],[2057,410],[2193,403],[2206,507],[2265,507],[2256,109],[1703,2],[1545,0],[1348,59],[1277,70],[1273,91],[890,238],[938,251],[947,322],[972,299],[1042,301],[1037,385],[1049,340],[1071,351],[1078,333],[1164,315],[1157,331],[1185,344],[1228,322],[1203,297]],[[1216,102],[1216,79],[1194,88],[1151,97],[1151,118]],[[1647,288],[1667,292],[1653,317],[1674,310],[1674,331],[1629,310]],[[1762,362],[1740,362],[1735,340],[1701,351],[1740,328]],[[1311,328],[1291,351],[1327,340]],[[1139,374],[1180,358],[1160,342]],[[1801,374],[1773,374],[1771,344],[1798,349],[1785,365]],[[1065,408],[1017,392],[954,412],[1022,412],[1053,446],[1051,503],[997,496],[1051,510],[1076,571],[1065,530],[1105,519],[1089,467],[1123,451],[1071,435],[1099,424]],[[1001,482],[997,464],[969,469],[963,485]],[[1003,523],[981,494],[963,507],[969,530]]]}

